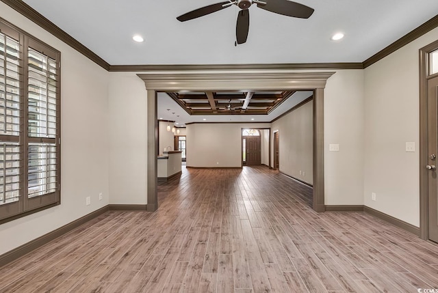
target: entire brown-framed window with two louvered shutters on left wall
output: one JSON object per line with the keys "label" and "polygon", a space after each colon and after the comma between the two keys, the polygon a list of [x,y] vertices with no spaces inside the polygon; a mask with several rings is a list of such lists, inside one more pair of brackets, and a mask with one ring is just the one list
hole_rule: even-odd
{"label": "entire brown-framed window with two louvered shutters on left wall", "polygon": [[60,204],[60,52],[0,19],[0,223]]}

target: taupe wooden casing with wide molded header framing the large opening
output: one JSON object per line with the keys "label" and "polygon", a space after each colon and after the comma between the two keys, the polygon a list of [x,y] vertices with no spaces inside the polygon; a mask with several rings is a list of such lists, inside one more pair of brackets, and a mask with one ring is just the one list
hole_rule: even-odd
{"label": "taupe wooden casing with wide molded header framing the large opening", "polygon": [[138,74],[147,90],[147,210],[157,202],[157,92],[227,91],[242,89],[293,89],[313,91],[313,210],[325,211],[324,204],[324,87],[335,72],[272,70],[272,66],[233,66],[221,70],[192,66],[153,68]]}

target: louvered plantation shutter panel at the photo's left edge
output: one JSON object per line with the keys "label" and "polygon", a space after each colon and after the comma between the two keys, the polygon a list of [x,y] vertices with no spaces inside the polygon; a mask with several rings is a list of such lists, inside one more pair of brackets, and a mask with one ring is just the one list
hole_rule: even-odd
{"label": "louvered plantation shutter panel at the photo's left edge", "polygon": [[0,219],[23,210],[19,38],[16,31],[0,26]]}

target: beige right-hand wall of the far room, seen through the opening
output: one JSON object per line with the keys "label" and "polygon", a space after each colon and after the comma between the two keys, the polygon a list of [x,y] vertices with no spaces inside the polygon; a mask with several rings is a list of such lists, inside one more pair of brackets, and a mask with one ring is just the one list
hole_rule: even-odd
{"label": "beige right-hand wall of the far room, seen through the opening", "polygon": [[280,171],[313,184],[313,102],[276,120],[272,129],[279,130]]}

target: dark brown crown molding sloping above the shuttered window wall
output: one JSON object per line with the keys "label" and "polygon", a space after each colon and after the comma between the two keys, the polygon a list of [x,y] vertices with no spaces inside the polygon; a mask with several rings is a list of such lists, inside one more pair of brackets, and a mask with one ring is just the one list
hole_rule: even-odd
{"label": "dark brown crown molding sloping above the shuttered window wall", "polygon": [[16,10],[16,12],[23,14],[23,16],[29,18],[29,20],[36,23],[36,25],[39,25],[46,31],[49,31],[53,36],[56,38],[62,40],[62,42],[68,44],[68,46],[71,46],[76,51],[90,59],[91,61],[94,61],[97,65],[101,66],[105,70],[110,70],[110,64],[108,64],[105,60],[103,60],[101,57],[96,55],[96,53],[92,52],[89,48],[81,44],[79,41],[77,41],[75,38],[70,36],[68,33],[57,27],[54,23],[52,23],[49,19],[45,18],[34,10],[34,8],[31,8],[29,5],[27,5],[24,1],[21,0],[1,0],[6,5],[10,6],[10,8]]}

